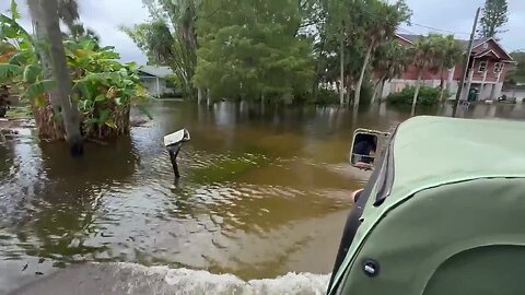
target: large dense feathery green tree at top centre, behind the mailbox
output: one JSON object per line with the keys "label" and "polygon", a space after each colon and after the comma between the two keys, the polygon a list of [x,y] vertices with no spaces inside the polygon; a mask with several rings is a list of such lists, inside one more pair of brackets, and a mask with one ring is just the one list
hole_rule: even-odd
{"label": "large dense feathery green tree at top centre, behind the mailbox", "polygon": [[308,91],[314,71],[310,43],[296,36],[298,1],[209,0],[202,7],[197,86],[213,98],[262,103]]}

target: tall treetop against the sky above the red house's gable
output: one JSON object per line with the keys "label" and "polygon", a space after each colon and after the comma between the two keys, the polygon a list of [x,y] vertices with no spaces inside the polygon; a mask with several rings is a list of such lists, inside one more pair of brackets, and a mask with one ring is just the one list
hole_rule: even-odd
{"label": "tall treetop against the sky above the red house's gable", "polygon": [[504,33],[501,27],[509,22],[509,4],[506,0],[486,0],[480,20],[480,37],[495,37]]}

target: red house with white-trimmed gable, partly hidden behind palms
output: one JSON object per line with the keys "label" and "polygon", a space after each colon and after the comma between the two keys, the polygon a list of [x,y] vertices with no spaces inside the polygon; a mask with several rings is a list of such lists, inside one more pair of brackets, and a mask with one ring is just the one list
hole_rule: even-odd
{"label": "red house with white-trimmed gable, partly hidden behind palms", "polygon": [[[419,35],[396,34],[397,42],[401,46],[412,46]],[[467,40],[458,40],[465,51],[468,48]],[[474,42],[470,56],[468,75],[465,82],[462,99],[467,98],[470,90],[479,93],[478,101],[493,99],[502,95],[503,82],[505,81],[509,68],[515,63],[513,58],[494,38],[481,38]],[[457,94],[460,81],[465,74],[465,62],[459,62],[455,68],[439,71],[427,71],[423,73],[423,83],[427,86],[436,87],[441,85],[442,78],[450,90],[451,97]],[[385,84],[383,97],[390,93],[399,92],[407,85],[416,85],[418,70],[415,66],[408,67],[407,71],[398,79],[393,79]]]}

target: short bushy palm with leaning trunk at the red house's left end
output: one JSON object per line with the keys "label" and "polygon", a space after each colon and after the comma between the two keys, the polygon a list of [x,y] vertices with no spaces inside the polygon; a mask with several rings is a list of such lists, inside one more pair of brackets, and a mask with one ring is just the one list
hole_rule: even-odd
{"label": "short bushy palm with leaning trunk at the red house's left end", "polygon": [[375,102],[377,93],[383,93],[387,80],[400,76],[410,63],[410,56],[405,47],[397,42],[382,44],[375,51],[372,68],[377,76],[371,103]]}

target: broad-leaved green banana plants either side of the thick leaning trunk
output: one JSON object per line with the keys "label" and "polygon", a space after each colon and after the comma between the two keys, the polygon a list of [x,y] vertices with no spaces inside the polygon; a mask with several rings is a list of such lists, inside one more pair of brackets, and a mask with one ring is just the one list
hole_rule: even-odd
{"label": "broad-leaved green banana plants either side of the thick leaning trunk", "polygon": [[[40,45],[18,24],[13,11],[11,17],[0,14],[0,48],[9,49],[1,51],[0,84],[10,85],[36,107],[47,106],[46,93],[55,82],[44,79],[36,50]],[[113,47],[101,48],[89,38],[66,40],[63,46],[85,137],[103,138],[112,133],[107,129],[126,132],[131,106],[151,117],[143,107],[149,96],[135,63],[120,63]]]}

